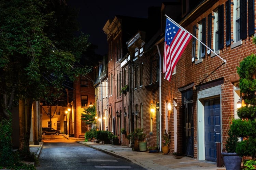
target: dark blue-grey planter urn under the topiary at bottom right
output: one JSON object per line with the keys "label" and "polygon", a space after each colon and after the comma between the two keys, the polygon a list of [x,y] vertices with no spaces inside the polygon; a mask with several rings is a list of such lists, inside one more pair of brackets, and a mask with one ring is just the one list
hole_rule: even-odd
{"label": "dark blue-grey planter urn under the topiary at bottom right", "polygon": [[226,170],[241,169],[242,157],[237,153],[222,152]]}

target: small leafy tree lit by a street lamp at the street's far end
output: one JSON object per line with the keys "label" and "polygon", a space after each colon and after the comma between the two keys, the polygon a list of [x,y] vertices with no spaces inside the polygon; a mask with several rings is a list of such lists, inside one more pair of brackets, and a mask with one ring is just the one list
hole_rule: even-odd
{"label": "small leafy tree lit by a street lamp at the street's far end", "polygon": [[95,115],[96,115],[96,110],[95,110],[95,104],[91,107],[87,107],[84,109],[83,111],[84,113],[82,113],[82,120],[87,124],[87,125],[91,125],[91,124],[95,124]]}

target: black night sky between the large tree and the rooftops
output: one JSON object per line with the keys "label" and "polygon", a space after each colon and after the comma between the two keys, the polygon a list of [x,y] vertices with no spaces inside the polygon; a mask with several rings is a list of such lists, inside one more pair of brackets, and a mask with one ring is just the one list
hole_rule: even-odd
{"label": "black night sky between the large tree and the rooftops", "polygon": [[[166,0],[165,2],[168,2]],[[98,45],[97,54],[104,55],[108,52],[106,34],[103,27],[108,19],[115,15],[147,18],[148,7],[161,6],[159,0],[70,0],[71,5],[80,8],[79,20],[82,31],[89,34],[89,41]]]}

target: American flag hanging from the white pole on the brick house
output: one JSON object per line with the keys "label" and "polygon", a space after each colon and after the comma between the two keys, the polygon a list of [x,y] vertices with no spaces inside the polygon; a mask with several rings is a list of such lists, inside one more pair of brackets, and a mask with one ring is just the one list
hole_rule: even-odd
{"label": "American flag hanging from the white pole on the brick house", "polygon": [[170,81],[172,72],[192,36],[166,18],[165,50],[163,55],[163,72]]}

